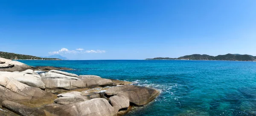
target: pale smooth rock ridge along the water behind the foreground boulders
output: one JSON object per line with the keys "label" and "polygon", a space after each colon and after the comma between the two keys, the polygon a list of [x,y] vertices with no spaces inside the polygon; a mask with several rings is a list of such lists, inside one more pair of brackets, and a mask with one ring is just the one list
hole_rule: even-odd
{"label": "pale smooth rock ridge along the water behind the foreground boulders", "polygon": [[45,83],[45,90],[51,93],[75,90],[79,88],[95,88],[97,86],[112,86],[110,79],[102,79],[95,75],[76,75],[63,71],[51,70],[40,74],[41,80]]}

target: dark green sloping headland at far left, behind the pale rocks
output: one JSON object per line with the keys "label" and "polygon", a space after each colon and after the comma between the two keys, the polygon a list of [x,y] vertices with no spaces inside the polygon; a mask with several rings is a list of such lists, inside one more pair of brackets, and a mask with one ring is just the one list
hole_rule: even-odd
{"label": "dark green sloping headland at far left, behind the pale rocks", "polygon": [[0,57],[5,58],[5,59],[47,59],[47,60],[60,60],[58,58],[41,58],[41,57],[35,57],[35,56],[23,55],[23,54],[15,54],[15,53],[3,52],[3,51],[0,51]]}

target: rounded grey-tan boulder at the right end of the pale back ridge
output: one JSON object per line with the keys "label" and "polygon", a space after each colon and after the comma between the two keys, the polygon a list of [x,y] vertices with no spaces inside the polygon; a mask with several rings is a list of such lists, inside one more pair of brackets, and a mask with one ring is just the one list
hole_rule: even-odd
{"label": "rounded grey-tan boulder at the right end of the pale back ridge", "polygon": [[87,88],[94,88],[97,86],[106,87],[113,85],[111,79],[103,79],[96,75],[80,75],[79,78],[84,82],[84,84],[86,84]]}

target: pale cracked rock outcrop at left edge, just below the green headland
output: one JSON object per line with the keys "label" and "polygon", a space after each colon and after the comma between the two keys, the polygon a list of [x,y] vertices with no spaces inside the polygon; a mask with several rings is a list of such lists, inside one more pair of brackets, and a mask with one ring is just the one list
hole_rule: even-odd
{"label": "pale cracked rock outcrop at left edge, just below the green headland", "polygon": [[11,59],[0,58],[0,71],[25,71],[27,69],[35,69],[29,65]]}

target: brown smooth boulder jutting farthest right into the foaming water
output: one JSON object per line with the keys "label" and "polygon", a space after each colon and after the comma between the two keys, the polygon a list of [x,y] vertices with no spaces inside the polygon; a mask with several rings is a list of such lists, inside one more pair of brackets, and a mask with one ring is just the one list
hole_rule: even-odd
{"label": "brown smooth boulder jutting farthest right into the foaming water", "polygon": [[105,91],[105,94],[107,94],[108,96],[116,95],[127,98],[129,102],[134,103],[138,106],[142,106],[151,102],[160,94],[160,92],[152,88],[127,85],[109,88],[107,91]]}

